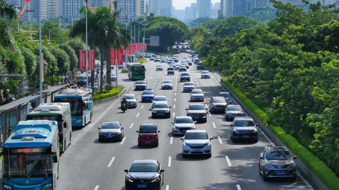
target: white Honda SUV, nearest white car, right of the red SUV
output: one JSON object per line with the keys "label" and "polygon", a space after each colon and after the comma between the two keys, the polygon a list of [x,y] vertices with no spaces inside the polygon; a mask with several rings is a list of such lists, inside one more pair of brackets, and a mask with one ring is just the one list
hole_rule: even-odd
{"label": "white Honda SUV, nearest white car, right of the red SUV", "polygon": [[180,139],[182,140],[182,157],[188,154],[205,154],[211,157],[213,137],[208,137],[206,130],[189,130]]}

